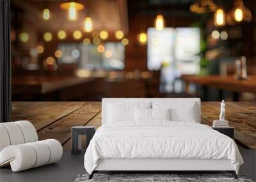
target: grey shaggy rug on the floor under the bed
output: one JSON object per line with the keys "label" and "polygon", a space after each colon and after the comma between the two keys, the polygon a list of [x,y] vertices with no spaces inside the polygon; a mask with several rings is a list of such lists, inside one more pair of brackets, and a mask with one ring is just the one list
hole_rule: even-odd
{"label": "grey shaggy rug on the floor under the bed", "polygon": [[148,181],[171,181],[171,182],[190,182],[190,181],[243,181],[253,182],[250,179],[244,178],[244,176],[238,176],[239,179],[234,179],[231,174],[94,174],[92,179],[88,179],[88,174],[78,175],[75,182],[93,182],[93,181],[136,181],[136,182],[148,182]]}

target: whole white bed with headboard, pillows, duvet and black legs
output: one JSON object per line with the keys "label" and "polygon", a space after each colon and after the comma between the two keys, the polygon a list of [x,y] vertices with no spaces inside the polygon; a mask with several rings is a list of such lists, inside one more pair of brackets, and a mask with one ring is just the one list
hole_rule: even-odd
{"label": "whole white bed with headboard, pillows, duvet and black legs", "polygon": [[104,98],[102,126],[84,155],[90,178],[96,171],[230,171],[236,178],[242,163],[234,140],[200,124],[198,98]]}

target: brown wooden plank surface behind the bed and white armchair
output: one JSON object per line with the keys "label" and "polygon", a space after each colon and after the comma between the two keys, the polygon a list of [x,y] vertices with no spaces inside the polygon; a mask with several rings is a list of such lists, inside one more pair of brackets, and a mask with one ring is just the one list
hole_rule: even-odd
{"label": "brown wooden plank surface behind the bed and white armchair", "polygon": [[[219,117],[220,102],[201,104],[201,123],[212,125]],[[12,121],[22,119],[33,123],[40,140],[57,139],[70,149],[71,126],[101,125],[101,102],[13,102]],[[238,144],[256,149],[256,102],[227,102],[226,119],[235,128]]]}

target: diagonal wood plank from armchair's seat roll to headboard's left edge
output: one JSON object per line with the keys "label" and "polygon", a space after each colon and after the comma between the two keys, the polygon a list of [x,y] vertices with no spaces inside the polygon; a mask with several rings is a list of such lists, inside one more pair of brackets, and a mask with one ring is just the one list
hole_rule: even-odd
{"label": "diagonal wood plank from armchair's seat roll to headboard's left edge", "polygon": [[86,125],[101,110],[100,102],[89,102],[88,105],[68,114],[64,118],[55,121],[51,125],[38,132],[40,140],[56,139],[64,144],[71,137],[71,127]]}

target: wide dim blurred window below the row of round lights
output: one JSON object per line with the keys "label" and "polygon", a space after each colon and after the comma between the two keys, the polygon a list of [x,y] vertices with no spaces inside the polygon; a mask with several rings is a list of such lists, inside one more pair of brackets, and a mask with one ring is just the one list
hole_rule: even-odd
{"label": "wide dim blurred window below the row of round lights", "polygon": [[124,45],[119,42],[104,43],[104,52],[97,51],[97,45],[83,43],[61,43],[58,49],[62,52],[60,64],[77,63],[79,68],[88,70],[123,70]]}

